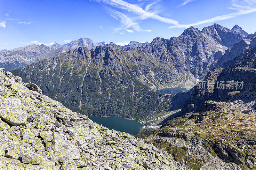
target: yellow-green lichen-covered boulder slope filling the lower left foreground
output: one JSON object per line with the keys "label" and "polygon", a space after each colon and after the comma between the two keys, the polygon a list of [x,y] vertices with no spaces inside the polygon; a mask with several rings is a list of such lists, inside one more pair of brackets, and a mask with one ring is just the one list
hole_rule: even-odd
{"label": "yellow-green lichen-covered boulder slope filling the lower left foreground", "polygon": [[0,169],[179,169],[166,151],[109,130],[0,69]]}

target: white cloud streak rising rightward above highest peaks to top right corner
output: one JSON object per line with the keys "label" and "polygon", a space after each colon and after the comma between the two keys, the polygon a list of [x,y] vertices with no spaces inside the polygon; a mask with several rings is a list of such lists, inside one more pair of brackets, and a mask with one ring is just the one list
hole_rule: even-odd
{"label": "white cloud streak rising rightward above highest peaks to top right corner", "polygon": [[231,6],[228,8],[236,10],[236,12],[226,14],[226,15],[216,16],[216,17],[205,19],[202,21],[197,21],[192,24],[185,24],[185,25],[179,24],[175,26],[170,26],[169,28],[188,28],[190,26],[197,26],[200,24],[212,23],[216,21],[226,20],[229,18],[234,18],[239,15],[249,14],[256,11],[256,1],[255,0],[232,0]]}

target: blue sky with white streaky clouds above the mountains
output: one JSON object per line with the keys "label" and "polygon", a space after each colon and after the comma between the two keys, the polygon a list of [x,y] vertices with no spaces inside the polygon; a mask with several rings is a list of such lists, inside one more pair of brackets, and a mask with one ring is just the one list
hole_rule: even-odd
{"label": "blue sky with white streaky clouds above the mountains", "polygon": [[169,39],[215,22],[256,31],[256,0],[0,0],[0,50],[30,44]]}

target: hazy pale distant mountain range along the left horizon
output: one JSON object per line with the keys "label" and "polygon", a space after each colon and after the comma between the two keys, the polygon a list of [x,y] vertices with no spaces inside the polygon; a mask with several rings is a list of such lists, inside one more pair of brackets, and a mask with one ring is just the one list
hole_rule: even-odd
{"label": "hazy pale distant mountain range along the left horizon", "polygon": [[[111,42],[109,45],[110,44],[115,43]],[[148,42],[139,43],[131,41],[130,44],[127,45],[127,48],[137,48],[147,44]],[[44,44],[33,44],[25,47],[14,48],[12,50],[4,49],[0,51],[0,68],[5,68],[5,70],[14,70],[47,58],[51,58],[68,50],[73,50],[82,46],[92,49],[99,45],[105,46],[106,44],[105,42],[94,43],[89,38],[80,38],[65,45],[60,45],[55,42],[49,47],[45,46]]]}

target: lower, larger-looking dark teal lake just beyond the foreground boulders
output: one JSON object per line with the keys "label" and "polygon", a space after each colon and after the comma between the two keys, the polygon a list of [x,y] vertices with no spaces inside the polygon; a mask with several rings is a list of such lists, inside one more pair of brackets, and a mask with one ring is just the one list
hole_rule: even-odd
{"label": "lower, larger-looking dark teal lake just beyond the foreground boulders", "polygon": [[114,129],[121,132],[126,132],[129,134],[136,135],[139,130],[144,126],[137,120],[129,120],[124,119],[122,117],[115,117],[115,116],[108,116],[108,117],[101,117],[101,116],[88,116],[93,122],[98,123],[99,125],[103,125],[108,129]]}

